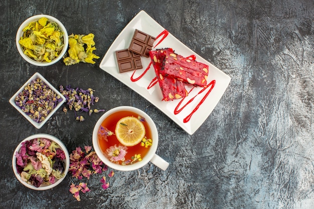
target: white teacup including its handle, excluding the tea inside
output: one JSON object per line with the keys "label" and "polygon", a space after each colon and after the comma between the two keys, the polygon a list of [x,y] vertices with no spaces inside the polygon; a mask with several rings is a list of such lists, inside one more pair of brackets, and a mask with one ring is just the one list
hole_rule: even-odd
{"label": "white teacup including its handle, excluding the tea inside", "polygon": [[[148,126],[150,127],[150,131],[151,131],[151,138],[152,138],[152,145],[149,147],[148,152],[145,154],[145,156],[142,157],[141,161],[137,161],[133,164],[127,164],[127,165],[121,165],[121,164],[117,164],[115,162],[110,161],[105,154],[103,153],[103,151],[101,150],[101,147],[99,145],[98,142],[98,131],[99,128],[102,124],[102,122],[111,114],[119,112],[119,111],[131,111],[134,112],[135,114],[140,115],[141,117],[145,118],[145,121],[147,122]],[[113,131],[114,130],[110,130]],[[109,136],[110,137],[110,136]],[[108,137],[108,140],[110,140],[110,138]],[[115,107],[113,109],[108,110],[107,112],[105,112],[97,121],[94,130],[93,130],[93,136],[92,136],[92,140],[93,140],[93,147],[94,150],[96,152],[96,154],[98,155],[98,157],[100,158],[100,160],[102,162],[104,162],[107,166],[116,169],[116,170],[123,170],[123,171],[128,171],[128,170],[135,170],[138,169],[144,165],[146,165],[149,161],[152,162],[154,165],[160,167],[163,170],[166,170],[169,166],[169,163],[167,161],[165,161],[163,158],[161,158],[159,155],[155,154],[157,146],[158,146],[158,131],[157,128],[154,124],[154,122],[152,121],[152,119],[143,111],[135,108],[135,107],[130,107],[130,106],[120,106],[120,107]],[[104,140],[104,139],[100,139],[100,140]]]}

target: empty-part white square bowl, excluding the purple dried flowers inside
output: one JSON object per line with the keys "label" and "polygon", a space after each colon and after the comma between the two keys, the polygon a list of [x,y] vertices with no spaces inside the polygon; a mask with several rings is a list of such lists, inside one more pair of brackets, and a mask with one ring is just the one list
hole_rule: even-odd
{"label": "empty-part white square bowl, excluding the purple dried flowers inside", "polygon": [[[42,122],[36,122],[33,120],[30,116],[28,116],[25,112],[22,111],[18,105],[15,103],[15,98],[19,95],[20,92],[24,90],[24,88],[34,79],[40,78],[42,81],[44,81],[51,90],[53,90],[57,95],[61,97],[61,101],[57,104],[57,106],[47,115],[45,120]],[[40,73],[35,73],[20,89],[11,97],[10,104],[12,104],[13,107],[15,107],[28,121],[30,121],[36,128],[40,129],[48,120],[49,118],[62,106],[62,104],[66,101],[66,98],[55,88],[53,87]]]}

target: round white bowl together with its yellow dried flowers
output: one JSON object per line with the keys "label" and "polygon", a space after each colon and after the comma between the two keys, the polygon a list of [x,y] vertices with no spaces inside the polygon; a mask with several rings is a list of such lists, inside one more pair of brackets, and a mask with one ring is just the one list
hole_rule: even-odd
{"label": "round white bowl together with its yellow dried flowers", "polygon": [[64,25],[49,15],[30,17],[19,27],[16,45],[20,55],[36,66],[49,66],[62,59],[69,38]]}

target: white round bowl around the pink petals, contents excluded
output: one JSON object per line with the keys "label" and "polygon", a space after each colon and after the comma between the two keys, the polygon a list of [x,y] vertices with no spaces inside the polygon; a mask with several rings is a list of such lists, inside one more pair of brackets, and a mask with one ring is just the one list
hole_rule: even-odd
{"label": "white round bowl around the pink petals, contents excluded", "polygon": [[[35,139],[35,138],[46,138],[46,139],[49,139],[50,141],[55,141],[57,144],[60,145],[61,149],[64,151],[64,154],[66,156],[66,158],[64,159],[64,163],[65,163],[65,170],[64,170],[64,176],[60,179],[56,179],[55,183],[53,184],[50,184],[50,185],[41,185],[39,187],[36,187],[32,184],[29,184],[25,181],[22,180],[21,178],[21,175],[19,174],[18,172],[18,169],[17,169],[17,157],[16,157],[16,152],[18,152],[21,147],[22,147],[22,143],[25,142],[25,141],[29,141],[29,140],[32,140],[32,139]],[[18,180],[23,184],[25,185],[26,187],[28,188],[31,188],[31,189],[34,189],[34,190],[46,190],[46,189],[51,189],[53,187],[55,187],[56,185],[58,185],[59,183],[61,183],[61,181],[65,178],[65,176],[67,175],[68,171],[69,171],[69,166],[70,166],[70,156],[69,156],[69,152],[67,150],[67,148],[65,147],[65,145],[62,143],[62,141],[60,141],[58,138],[52,136],[52,135],[49,135],[49,134],[35,134],[35,135],[32,135],[32,136],[29,136],[27,138],[25,138],[23,141],[21,141],[21,143],[17,146],[17,148],[15,149],[14,151],[14,154],[13,154],[13,158],[12,158],[12,167],[13,167],[13,171],[14,171],[14,174],[16,175],[16,177],[18,178]]]}

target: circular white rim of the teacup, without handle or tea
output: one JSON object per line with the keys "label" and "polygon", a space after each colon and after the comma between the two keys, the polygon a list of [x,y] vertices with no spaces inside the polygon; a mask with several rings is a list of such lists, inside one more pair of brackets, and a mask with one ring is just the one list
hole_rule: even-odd
{"label": "circular white rim of the teacup, without handle or tea", "polygon": [[[132,112],[135,112],[136,114],[140,115],[141,117],[144,117],[145,121],[148,123],[148,126],[150,127],[152,139],[153,139],[153,143],[152,143],[151,147],[149,148],[147,154],[142,158],[142,160],[138,161],[134,164],[130,164],[130,165],[119,165],[119,164],[111,162],[107,157],[105,157],[105,155],[103,154],[103,152],[102,152],[102,150],[98,144],[98,130],[99,130],[99,127],[100,127],[102,121],[106,117],[111,115],[112,113],[118,112],[118,111],[123,111],[123,110],[132,111]],[[131,107],[131,106],[119,106],[119,107],[115,107],[115,108],[108,110],[98,119],[98,121],[94,127],[94,130],[93,130],[92,141],[93,141],[93,147],[94,147],[94,150],[95,150],[97,156],[100,158],[100,160],[103,163],[105,163],[110,168],[113,168],[116,170],[122,170],[122,171],[136,170],[136,169],[146,165],[151,160],[153,155],[155,154],[157,147],[158,147],[158,130],[156,128],[156,125],[152,121],[152,119],[142,110],[137,109],[135,107]]]}

